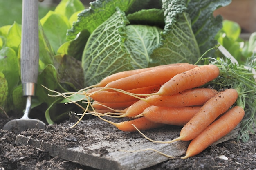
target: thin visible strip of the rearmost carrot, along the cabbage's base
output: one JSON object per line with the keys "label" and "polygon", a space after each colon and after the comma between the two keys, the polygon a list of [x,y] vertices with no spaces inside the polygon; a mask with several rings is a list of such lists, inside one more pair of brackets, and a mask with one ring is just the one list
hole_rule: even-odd
{"label": "thin visible strip of the rearmost carrot, along the cabbage's base", "polygon": [[96,85],[94,85],[92,87],[97,87],[97,86],[105,87],[108,83],[110,83],[112,81],[116,81],[118,79],[125,78],[125,77],[131,76],[134,74],[138,74],[141,72],[146,72],[148,70],[158,69],[161,67],[169,67],[169,66],[174,66],[174,65],[187,65],[187,64],[189,64],[189,63],[174,63],[174,64],[168,64],[168,65],[159,65],[159,66],[155,66],[155,67],[118,72],[118,73],[112,74],[110,76],[107,76],[106,78],[104,78],[103,80],[101,80],[99,83],[97,83]]}

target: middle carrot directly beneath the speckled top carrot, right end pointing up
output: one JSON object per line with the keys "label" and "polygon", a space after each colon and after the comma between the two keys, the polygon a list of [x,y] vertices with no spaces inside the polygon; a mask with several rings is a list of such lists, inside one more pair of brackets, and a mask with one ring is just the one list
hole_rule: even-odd
{"label": "middle carrot directly beneath the speckled top carrot, right end pointing up", "polygon": [[171,96],[152,95],[145,99],[147,103],[163,107],[183,107],[204,105],[218,91],[210,88],[188,89]]}

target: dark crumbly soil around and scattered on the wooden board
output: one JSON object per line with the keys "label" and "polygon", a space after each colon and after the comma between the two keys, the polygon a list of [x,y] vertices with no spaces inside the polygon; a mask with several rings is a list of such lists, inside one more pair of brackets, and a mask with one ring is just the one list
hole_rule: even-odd
{"label": "dark crumbly soil around and scattered on the wooden board", "polygon": [[[17,134],[2,130],[7,121],[4,115],[0,115],[0,170],[96,170],[91,167],[80,165],[77,162],[68,161],[59,157],[52,157],[50,154],[34,146],[16,145]],[[45,141],[57,140],[59,145],[68,145],[72,147],[77,144],[76,141],[83,136],[83,130],[79,128],[62,128],[76,121],[71,117],[65,122],[47,125],[46,129],[51,135],[40,136],[42,130],[29,129],[22,132],[24,135],[34,138],[44,138]],[[102,127],[101,127],[102,128]],[[54,135],[54,136],[53,136]],[[132,135],[132,133],[131,133]],[[115,134],[109,137],[110,140],[117,138]],[[63,139],[65,139],[63,141]],[[86,139],[88,140],[88,139]],[[91,139],[92,142],[97,139]],[[204,152],[188,159],[169,159],[144,170],[256,170],[256,136],[251,135],[246,143],[237,142],[232,139],[218,145],[213,145]],[[106,149],[98,152],[108,154]],[[220,156],[224,156],[221,158]]]}

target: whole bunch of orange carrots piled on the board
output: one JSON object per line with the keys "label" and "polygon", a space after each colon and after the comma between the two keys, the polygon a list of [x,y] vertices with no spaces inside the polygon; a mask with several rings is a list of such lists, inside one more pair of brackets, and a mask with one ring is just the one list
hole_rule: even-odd
{"label": "whole bunch of orange carrots piled on the board", "polygon": [[[245,114],[242,107],[234,106],[236,89],[218,92],[200,87],[219,75],[216,65],[162,65],[108,76],[85,96],[93,101],[90,105],[95,116],[122,131],[183,126],[180,136],[170,142],[191,140],[182,157],[187,158],[231,132]],[[131,120],[114,123],[102,116]]]}

